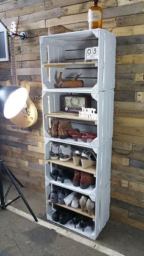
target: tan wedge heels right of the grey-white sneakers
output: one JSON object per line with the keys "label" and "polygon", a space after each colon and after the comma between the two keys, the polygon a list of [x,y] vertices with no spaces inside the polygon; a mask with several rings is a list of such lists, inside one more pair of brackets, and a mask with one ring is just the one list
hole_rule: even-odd
{"label": "tan wedge heels right of the grey-white sneakers", "polygon": [[87,169],[90,166],[96,165],[96,156],[92,151],[84,151],[80,152],[79,150],[75,150],[73,154],[73,163],[74,166],[79,166],[81,161],[82,168]]}

